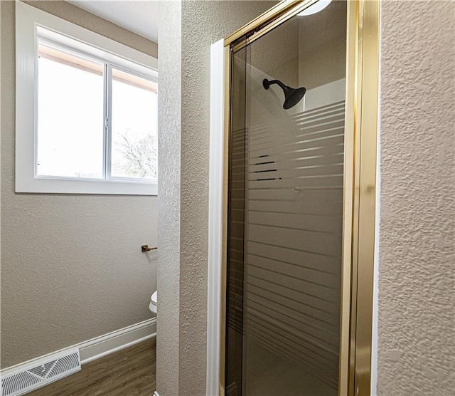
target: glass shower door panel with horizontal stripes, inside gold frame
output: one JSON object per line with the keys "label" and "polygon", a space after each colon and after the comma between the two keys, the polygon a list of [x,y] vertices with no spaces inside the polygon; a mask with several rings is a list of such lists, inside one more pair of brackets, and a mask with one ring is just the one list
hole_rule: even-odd
{"label": "glass shower door panel with horizontal stripes, inside gold frame", "polygon": [[225,395],[338,395],[346,1],[232,46]]}

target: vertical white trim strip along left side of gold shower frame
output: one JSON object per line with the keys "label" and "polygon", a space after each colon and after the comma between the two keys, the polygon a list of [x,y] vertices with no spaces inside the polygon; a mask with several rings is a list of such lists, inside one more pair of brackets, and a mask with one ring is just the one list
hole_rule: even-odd
{"label": "vertical white trim strip along left side of gold shower frame", "polygon": [[220,306],[223,243],[224,43],[212,44],[210,58],[210,174],[208,198],[207,395],[220,384]]}

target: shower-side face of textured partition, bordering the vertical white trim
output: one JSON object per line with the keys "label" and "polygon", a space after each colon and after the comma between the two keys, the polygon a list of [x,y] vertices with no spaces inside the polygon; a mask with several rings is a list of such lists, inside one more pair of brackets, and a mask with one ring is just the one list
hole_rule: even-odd
{"label": "shower-side face of textured partition, bordering the vertical white trim", "polygon": [[203,0],[182,4],[181,396],[205,395],[210,45],[273,4]]}

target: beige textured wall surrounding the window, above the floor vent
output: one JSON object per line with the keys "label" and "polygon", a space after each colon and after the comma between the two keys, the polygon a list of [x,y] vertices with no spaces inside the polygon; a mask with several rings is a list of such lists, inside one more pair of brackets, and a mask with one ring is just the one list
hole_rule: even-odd
{"label": "beige textured wall surrounding the window, above the floor vent", "polygon": [[[114,24],[61,2],[70,21],[135,46]],[[15,194],[14,2],[1,1],[1,367],[151,318],[156,197]],[[149,43],[150,53],[156,43]],[[144,49],[144,47],[141,47]]]}

